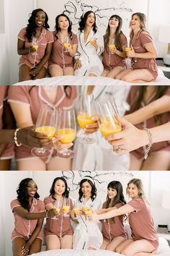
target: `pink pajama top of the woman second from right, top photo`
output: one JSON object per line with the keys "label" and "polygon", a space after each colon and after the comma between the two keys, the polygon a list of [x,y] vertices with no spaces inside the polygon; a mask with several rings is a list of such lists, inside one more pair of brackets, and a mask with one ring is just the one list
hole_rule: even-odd
{"label": "pink pajama top of the woman second from right, top photo", "polygon": [[[104,42],[106,40],[106,35],[104,35]],[[127,39],[124,34],[120,34],[120,44],[121,47],[127,46]],[[106,70],[112,70],[114,67],[126,67],[125,58],[120,57],[117,54],[111,54],[109,51],[109,46],[105,46],[103,53],[103,66]]]}

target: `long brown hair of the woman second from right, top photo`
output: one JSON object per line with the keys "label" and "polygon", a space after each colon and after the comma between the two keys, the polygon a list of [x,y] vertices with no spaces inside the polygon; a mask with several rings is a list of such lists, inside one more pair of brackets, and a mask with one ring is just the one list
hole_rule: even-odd
{"label": "long brown hair of the woman second from right, top photo", "polygon": [[[115,31],[115,46],[117,48],[117,50],[122,50],[122,46],[120,44],[120,35],[122,34],[122,18],[116,14],[112,15],[110,18],[109,18],[109,21],[112,19],[112,18],[115,18],[119,21],[119,25]],[[109,27],[109,22],[108,22],[108,26],[107,26],[107,30],[106,30],[106,38],[105,38],[105,46],[107,46],[107,44],[109,43],[109,36],[110,36],[110,27]]]}

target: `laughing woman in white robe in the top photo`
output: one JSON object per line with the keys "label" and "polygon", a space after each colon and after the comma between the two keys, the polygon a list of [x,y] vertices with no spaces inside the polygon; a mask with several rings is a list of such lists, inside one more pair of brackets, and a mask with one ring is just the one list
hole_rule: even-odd
{"label": "laughing woman in white robe in the top photo", "polygon": [[100,76],[103,64],[99,56],[104,51],[103,38],[97,33],[94,12],[86,12],[79,22],[78,48],[75,57],[76,76]]}

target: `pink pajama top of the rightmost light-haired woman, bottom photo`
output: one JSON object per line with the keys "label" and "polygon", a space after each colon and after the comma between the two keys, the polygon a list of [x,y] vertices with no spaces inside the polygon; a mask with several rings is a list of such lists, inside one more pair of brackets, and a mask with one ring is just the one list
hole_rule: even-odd
{"label": "pink pajama top of the rightmost light-haired woman, bottom photo", "polygon": [[139,197],[128,202],[128,205],[134,208],[133,213],[128,215],[133,240],[146,239],[157,249],[158,236],[153,226],[150,205]]}

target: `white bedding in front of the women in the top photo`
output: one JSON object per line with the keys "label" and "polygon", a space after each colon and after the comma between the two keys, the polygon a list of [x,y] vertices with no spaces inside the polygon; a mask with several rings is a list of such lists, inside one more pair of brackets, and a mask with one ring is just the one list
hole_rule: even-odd
{"label": "white bedding in front of the women in the top photo", "polygon": [[[115,80],[109,77],[76,77],[60,76],[45,77],[37,80],[17,82],[14,85],[132,85],[130,82]],[[161,69],[158,70],[158,77],[155,82],[146,82],[133,85],[170,85],[170,80],[165,77]]]}

